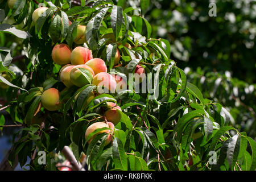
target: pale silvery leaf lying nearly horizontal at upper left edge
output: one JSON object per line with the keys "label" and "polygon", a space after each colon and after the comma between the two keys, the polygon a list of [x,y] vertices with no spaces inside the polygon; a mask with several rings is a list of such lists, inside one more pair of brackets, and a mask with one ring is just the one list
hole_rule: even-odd
{"label": "pale silvery leaf lying nearly horizontal at upper left edge", "polygon": [[18,30],[15,27],[11,26],[10,24],[0,24],[0,32],[6,32],[9,34],[13,34],[18,38],[21,39],[27,39],[27,38],[31,38],[32,36],[30,35],[30,33],[22,31],[22,30]]}

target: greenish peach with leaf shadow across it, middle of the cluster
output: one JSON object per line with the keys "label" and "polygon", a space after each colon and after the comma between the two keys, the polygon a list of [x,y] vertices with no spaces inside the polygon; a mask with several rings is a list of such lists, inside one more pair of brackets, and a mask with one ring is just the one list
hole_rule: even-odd
{"label": "greenish peach with leaf shadow across it, middle of the cluster", "polygon": [[[77,68],[86,69],[88,71],[88,73],[86,74],[88,77],[83,75]],[[72,84],[79,87],[90,84],[90,82],[92,82],[93,80],[93,77],[94,77],[93,69],[85,64],[76,65],[71,69],[71,72],[70,72],[70,80]]]}

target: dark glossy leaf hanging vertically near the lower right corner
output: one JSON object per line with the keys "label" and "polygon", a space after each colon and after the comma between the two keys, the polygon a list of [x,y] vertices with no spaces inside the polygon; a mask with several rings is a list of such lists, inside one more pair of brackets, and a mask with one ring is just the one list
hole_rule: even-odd
{"label": "dark glossy leaf hanging vertically near the lower right corner", "polygon": [[234,135],[229,142],[226,155],[230,168],[233,170],[234,165],[237,162],[237,156],[240,150],[241,135]]}

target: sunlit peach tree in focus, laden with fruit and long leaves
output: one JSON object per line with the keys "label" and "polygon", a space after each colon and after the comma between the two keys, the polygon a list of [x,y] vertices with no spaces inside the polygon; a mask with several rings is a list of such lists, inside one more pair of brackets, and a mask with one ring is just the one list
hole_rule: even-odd
{"label": "sunlit peach tree in focus, laden with fruit and long leaves", "polygon": [[11,167],[255,170],[255,141],[151,38],[139,2],[0,1],[1,110],[21,126]]}

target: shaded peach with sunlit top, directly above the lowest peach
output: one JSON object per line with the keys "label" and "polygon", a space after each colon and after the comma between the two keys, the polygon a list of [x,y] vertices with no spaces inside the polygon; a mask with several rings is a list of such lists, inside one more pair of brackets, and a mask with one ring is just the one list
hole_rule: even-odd
{"label": "shaded peach with sunlit top, directly above the lowest peach", "polygon": [[122,111],[121,107],[119,107],[114,102],[107,102],[108,110],[105,111],[105,116],[107,121],[112,122],[114,125],[117,125],[117,123],[121,119],[121,114],[117,111]]}

